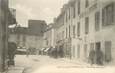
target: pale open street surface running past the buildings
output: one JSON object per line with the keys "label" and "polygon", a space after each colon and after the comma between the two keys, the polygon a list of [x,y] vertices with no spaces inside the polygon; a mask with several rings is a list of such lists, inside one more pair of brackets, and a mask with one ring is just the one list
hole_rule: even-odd
{"label": "pale open street surface running past the buildings", "polygon": [[53,59],[48,56],[17,55],[16,66],[23,66],[23,73],[115,73],[114,67],[90,66],[65,59]]}

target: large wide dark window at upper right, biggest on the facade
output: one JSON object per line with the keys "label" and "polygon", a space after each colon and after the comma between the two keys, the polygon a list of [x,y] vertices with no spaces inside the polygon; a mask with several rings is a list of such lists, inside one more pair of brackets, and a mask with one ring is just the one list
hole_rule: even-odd
{"label": "large wide dark window at upper right, biggest on the facade", "polygon": [[102,24],[103,26],[111,25],[114,22],[114,4],[107,5],[102,10]]}

